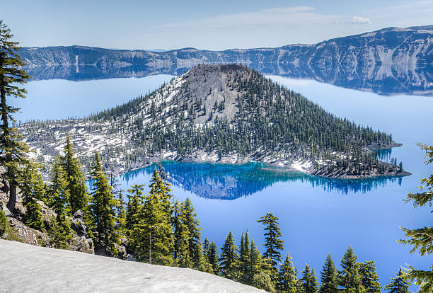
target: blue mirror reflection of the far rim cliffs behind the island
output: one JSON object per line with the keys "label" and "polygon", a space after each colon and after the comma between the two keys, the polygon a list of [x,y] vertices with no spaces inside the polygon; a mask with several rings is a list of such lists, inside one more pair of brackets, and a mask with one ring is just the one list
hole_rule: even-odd
{"label": "blue mirror reflection of the far rim cliffs behind the island", "polygon": [[[238,62],[238,60],[235,60]],[[190,67],[203,63],[190,62]],[[221,62],[217,62],[221,63]],[[227,63],[227,62],[222,62]],[[369,67],[345,68],[341,64],[298,64],[275,62],[238,62],[260,71],[262,74],[285,76],[292,79],[313,79],[333,84],[343,88],[353,88],[359,91],[370,91],[380,95],[410,94],[418,96],[433,95],[433,65],[417,67],[416,73],[399,64],[376,64],[374,70]],[[67,79],[84,81],[91,79],[113,79],[127,77],[144,77],[155,74],[179,75],[190,67],[178,67],[168,64],[166,67],[151,67],[142,64],[132,64],[128,67],[99,67],[93,65],[57,65],[28,67],[26,71],[35,80]],[[373,73],[371,73],[373,71]],[[380,72],[395,72],[393,76],[379,74]]]}

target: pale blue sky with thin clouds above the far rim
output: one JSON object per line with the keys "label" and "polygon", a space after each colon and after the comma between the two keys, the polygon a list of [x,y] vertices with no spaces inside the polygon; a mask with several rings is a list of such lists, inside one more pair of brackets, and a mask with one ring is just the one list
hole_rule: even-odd
{"label": "pale blue sky with thin clouds above the far rim", "polygon": [[279,47],[433,24],[433,0],[0,1],[0,20],[23,47]]}

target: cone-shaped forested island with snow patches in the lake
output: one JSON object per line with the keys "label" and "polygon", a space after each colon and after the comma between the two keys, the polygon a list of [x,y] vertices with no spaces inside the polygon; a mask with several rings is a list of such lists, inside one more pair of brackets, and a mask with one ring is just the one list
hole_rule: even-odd
{"label": "cone-shaped forested island with snow patches in the lake", "polygon": [[259,161],[333,178],[408,175],[369,151],[399,146],[390,134],[337,118],[238,64],[193,67],[147,96],[88,119],[28,122],[21,132],[41,163],[59,154],[71,135],[82,156],[98,150],[108,170],[118,173],[172,159]]}

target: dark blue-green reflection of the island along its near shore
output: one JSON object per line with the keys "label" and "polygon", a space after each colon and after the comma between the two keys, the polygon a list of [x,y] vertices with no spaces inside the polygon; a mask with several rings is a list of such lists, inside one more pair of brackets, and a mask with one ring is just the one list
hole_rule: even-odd
{"label": "dark blue-green reflection of the island along its near shore", "polygon": [[[235,200],[247,197],[268,188],[275,183],[310,183],[313,188],[322,188],[327,192],[337,191],[367,193],[372,189],[384,187],[388,183],[401,185],[402,178],[376,177],[359,180],[342,180],[310,176],[300,172],[287,172],[278,168],[270,168],[260,163],[245,165],[226,165],[214,163],[178,163],[162,161],[168,173],[168,180],[183,190],[190,191],[200,197],[220,200]],[[128,183],[135,177],[151,175],[154,165],[128,172],[122,180]]]}

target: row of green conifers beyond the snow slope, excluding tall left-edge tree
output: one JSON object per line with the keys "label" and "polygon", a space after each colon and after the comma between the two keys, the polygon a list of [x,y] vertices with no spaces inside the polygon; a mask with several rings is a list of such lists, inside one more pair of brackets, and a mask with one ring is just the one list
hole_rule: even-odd
{"label": "row of green conifers beyond the snow slope, excluding tall left-edge tree", "polygon": [[[25,170],[26,180],[20,183],[25,224],[47,231],[52,246],[67,248],[73,234],[70,219],[81,210],[99,254],[117,256],[120,245],[125,245],[137,261],[201,270],[268,292],[381,292],[374,261],[357,262],[351,247],[341,260],[342,270],[337,270],[328,255],[321,285],[310,265],[299,272],[289,253],[282,261],[282,232],[279,219],[271,213],[258,219],[264,227],[264,253],[250,239],[248,230],[238,245],[231,231],[220,249],[214,241],[202,241],[192,202],[189,198],[179,202],[171,195],[171,184],[160,165],[154,168],[148,194],[144,194],[144,185],[117,188],[115,178],[105,173],[97,152],[91,176],[88,190],[79,159],[67,139],[63,154],[52,166],[50,183],[43,182],[37,168]],[[125,195],[127,202],[123,200]],[[54,209],[56,216],[51,222],[42,220],[37,200]],[[410,292],[409,285],[400,270],[384,289]]]}

